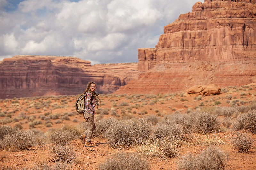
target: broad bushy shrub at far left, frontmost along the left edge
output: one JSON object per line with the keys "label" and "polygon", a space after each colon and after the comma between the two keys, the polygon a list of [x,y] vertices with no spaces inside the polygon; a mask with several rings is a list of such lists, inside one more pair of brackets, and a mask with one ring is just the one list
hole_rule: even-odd
{"label": "broad bushy shrub at far left, frontmost along the left edge", "polygon": [[1,148],[10,150],[11,152],[18,152],[20,150],[27,150],[35,140],[35,134],[32,131],[16,130],[12,135],[5,136],[0,142]]}

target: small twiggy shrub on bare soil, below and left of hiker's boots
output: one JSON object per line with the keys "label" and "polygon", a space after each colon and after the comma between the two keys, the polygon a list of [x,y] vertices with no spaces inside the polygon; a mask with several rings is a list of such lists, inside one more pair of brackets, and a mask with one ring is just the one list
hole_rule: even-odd
{"label": "small twiggy shrub on bare soil, below and left of hiker's boots", "polygon": [[54,161],[64,161],[67,163],[78,163],[78,154],[70,145],[57,144],[49,146],[50,155]]}

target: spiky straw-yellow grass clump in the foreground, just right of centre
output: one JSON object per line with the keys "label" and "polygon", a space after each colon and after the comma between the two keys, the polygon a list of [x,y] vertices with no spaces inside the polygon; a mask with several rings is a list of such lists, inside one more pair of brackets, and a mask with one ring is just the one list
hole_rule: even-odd
{"label": "spiky straw-yellow grass clump in the foreground, just right of centre", "polygon": [[180,151],[180,144],[175,140],[150,139],[141,140],[140,143],[135,144],[137,152],[146,155],[147,157],[158,157],[161,159],[169,159],[178,156]]}

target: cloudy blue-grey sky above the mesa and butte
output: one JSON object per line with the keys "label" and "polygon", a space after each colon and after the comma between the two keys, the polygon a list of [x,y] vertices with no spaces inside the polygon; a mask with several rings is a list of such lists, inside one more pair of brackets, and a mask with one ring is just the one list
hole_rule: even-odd
{"label": "cloudy blue-grey sky above the mesa and butte", "polygon": [[164,26],[204,0],[0,0],[0,61],[14,55],[138,62]]}

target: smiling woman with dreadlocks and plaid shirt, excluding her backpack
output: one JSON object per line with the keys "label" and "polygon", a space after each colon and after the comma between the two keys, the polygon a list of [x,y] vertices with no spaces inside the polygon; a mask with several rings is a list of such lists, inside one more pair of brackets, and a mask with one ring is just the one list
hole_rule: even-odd
{"label": "smiling woman with dreadlocks and plaid shirt, excluding her backpack", "polygon": [[[101,102],[101,100],[98,97],[98,93],[96,92],[96,83],[95,82],[89,82],[87,84],[87,88],[84,90],[83,94],[85,95],[84,104],[85,104],[85,112],[84,112],[84,119],[88,124],[88,129],[85,130],[84,134],[80,136],[80,140],[82,144],[85,144],[86,147],[93,147],[97,146],[97,144],[93,144],[91,142],[92,138],[92,132],[95,129],[95,123],[94,123],[94,115],[95,115],[95,105],[97,105]],[[87,139],[87,140],[86,140]],[[86,143],[85,143],[86,140]]]}

